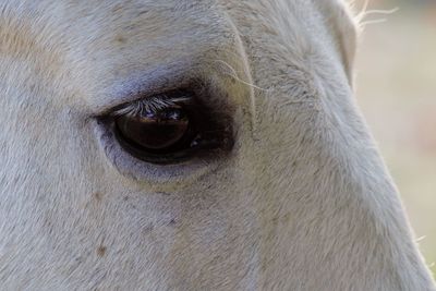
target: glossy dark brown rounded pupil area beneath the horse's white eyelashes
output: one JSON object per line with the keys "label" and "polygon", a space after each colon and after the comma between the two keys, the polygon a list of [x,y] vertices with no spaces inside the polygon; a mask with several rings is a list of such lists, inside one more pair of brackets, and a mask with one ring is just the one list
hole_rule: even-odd
{"label": "glossy dark brown rounded pupil area beneath the horse's white eyelashes", "polygon": [[183,140],[189,119],[182,108],[173,106],[134,117],[122,116],[116,124],[128,141],[146,149],[161,150]]}

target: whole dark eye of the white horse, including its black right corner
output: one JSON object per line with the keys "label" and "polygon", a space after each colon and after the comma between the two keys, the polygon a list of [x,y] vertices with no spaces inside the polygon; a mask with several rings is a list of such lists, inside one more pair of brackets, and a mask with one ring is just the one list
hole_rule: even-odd
{"label": "whole dark eye of the white horse, including its black right corner", "polygon": [[195,94],[174,92],[128,105],[112,114],[114,136],[132,156],[152,163],[179,163],[229,151],[229,118]]}

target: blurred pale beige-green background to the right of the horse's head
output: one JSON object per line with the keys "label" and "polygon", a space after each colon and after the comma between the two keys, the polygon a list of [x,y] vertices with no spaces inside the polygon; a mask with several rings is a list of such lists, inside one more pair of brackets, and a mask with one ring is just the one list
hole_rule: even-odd
{"label": "blurred pale beige-green background to the right of the horse's head", "polygon": [[[363,0],[353,1],[360,11]],[[371,0],[356,98],[436,278],[436,0]],[[364,22],[365,22],[364,21]]]}

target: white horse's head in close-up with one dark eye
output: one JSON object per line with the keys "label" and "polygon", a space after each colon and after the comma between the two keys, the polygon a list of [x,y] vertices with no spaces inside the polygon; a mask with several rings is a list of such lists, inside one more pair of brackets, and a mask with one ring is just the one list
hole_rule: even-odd
{"label": "white horse's head in close-up with one dark eye", "polygon": [[1,0],[2,290],[435,290],[340,0]]}

